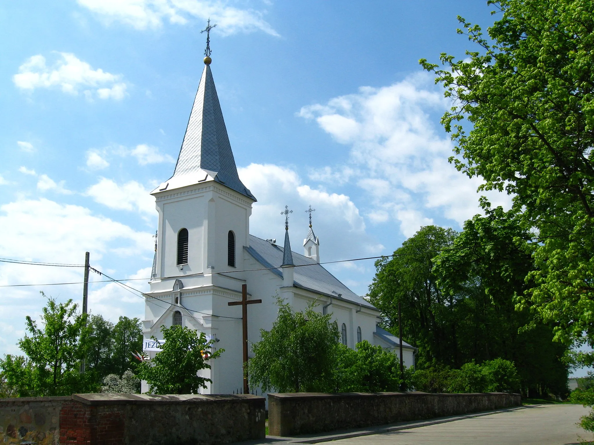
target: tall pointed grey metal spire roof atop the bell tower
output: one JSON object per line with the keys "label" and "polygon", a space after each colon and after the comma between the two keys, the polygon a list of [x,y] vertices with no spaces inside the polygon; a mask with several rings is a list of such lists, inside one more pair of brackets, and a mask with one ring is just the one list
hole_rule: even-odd
{"label": "tall pointed grey metal spire roof atop the bell tower", "polygon": [[214,179],[255,200],[237,174],[223,112],[208,65],[204,66],[200,78],[169,188],[190,185],[205,179]]}

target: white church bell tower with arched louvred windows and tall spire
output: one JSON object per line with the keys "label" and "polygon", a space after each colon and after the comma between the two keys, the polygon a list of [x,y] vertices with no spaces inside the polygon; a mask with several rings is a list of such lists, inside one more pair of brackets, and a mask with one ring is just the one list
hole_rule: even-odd
{"label": "white church bell tower with arched louvred windows and tall spire", "polygon": [[[173,176],[151,192],[159,226],[143,331],[160,339],[160,326],[182,325],[220,340],[225,354],[204,370],[213,380],[205,392],[220,393],[242,379],[241,320],[228,303],[241,301],[256,199],[237,173],[208,53]],[[217,336],[223,325],[228,338]]]}

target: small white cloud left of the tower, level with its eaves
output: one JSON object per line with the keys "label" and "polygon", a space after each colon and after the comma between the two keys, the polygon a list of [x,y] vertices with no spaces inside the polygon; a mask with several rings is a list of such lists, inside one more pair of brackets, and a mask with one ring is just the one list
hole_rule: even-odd
{"label": "small white cloud left of the tower, level with its eaves", "polygon": [[154,198],[150,190],[136,181],[118,185],[111,179],[101,178],[98,183],[89,187],[86,196],[111,209],[138,211],[147,215],[156,215]]}

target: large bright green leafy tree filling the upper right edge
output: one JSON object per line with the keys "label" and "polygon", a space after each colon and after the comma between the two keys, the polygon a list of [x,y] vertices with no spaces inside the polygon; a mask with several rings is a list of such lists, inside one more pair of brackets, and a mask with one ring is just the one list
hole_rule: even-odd
{"label": "large bright green leafy tree filling the upper right edge", "polygon": [[445,69],[421,60],[453,98],[442,119],[451,161],[483,189],[513,193],[523,225],[538,230],[523,304],[556,323],[557,340],[594,344],[594,3],[488,4],[490,39],[459,18],[476,50],[442,54]]}

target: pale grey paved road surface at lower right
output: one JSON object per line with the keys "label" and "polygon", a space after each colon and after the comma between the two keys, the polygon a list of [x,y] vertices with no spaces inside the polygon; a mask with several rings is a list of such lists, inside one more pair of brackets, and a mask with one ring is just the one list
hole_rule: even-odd
{"label": "pale grey paved road surface at lower right", "polygon": [[576,422],[589,409],[582,405],[537,405],[471,419],[393,433],[333,441],[333,445],[510,445],[579,444],[592,440]]}

